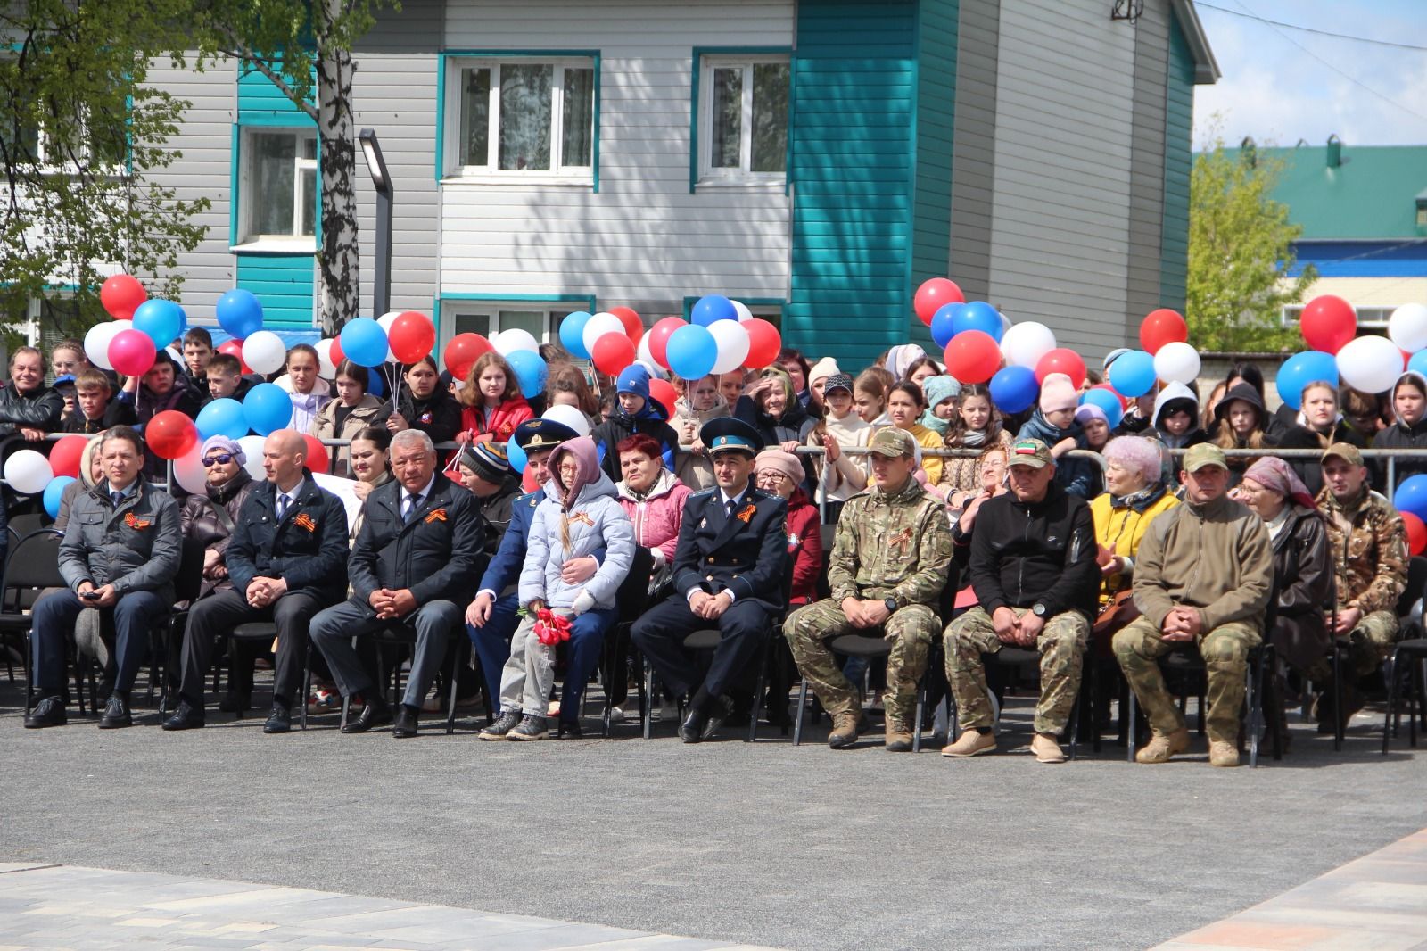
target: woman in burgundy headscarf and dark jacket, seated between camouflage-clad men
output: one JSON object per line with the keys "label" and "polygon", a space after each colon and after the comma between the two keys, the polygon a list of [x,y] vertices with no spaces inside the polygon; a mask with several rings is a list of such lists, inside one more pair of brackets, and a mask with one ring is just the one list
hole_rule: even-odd
{"label": "woman in burgundy headscarf and dark jacket, seated between camouflage-clad men", "polygon": [[[1323,513],[1299,474],[1273,456],[1256,460],[1234,493],[1263,518],[1273,540],[1277,597],[1269,641],[1290,668],[1306,675],[1331,644],[1323,605],[1333,597],[1333,561]],[[1286,747],[1281,704],[1270,713]]]}

